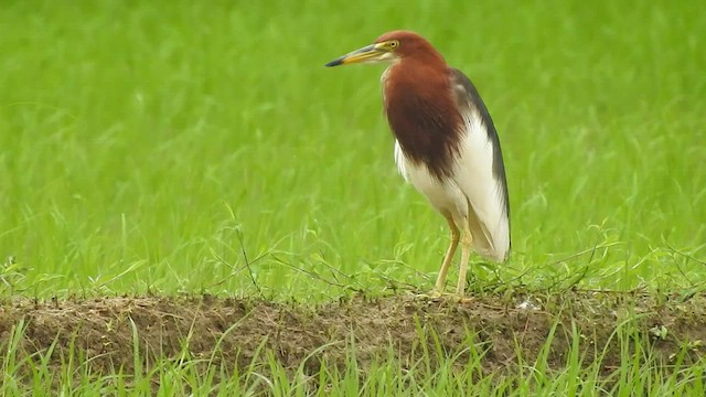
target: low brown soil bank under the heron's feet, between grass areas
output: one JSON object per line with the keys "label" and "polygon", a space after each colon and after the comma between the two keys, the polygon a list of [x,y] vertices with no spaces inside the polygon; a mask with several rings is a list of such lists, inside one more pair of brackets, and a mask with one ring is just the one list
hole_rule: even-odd
{"label": "low brown soil bank under the heron's feet, between grass areas", "polygon": [[[321,361],[343,366],[351,346],[362,368],[385,360],[391,351],[403,365],[413,365],[425,345],[439,351],[432,346],[434,337],[425,337],[435,333],[441,351],[456,356],[459,366],[468,363],[464,347],[473,343],[485,352],[483,368],[495,372],[516,365],[518,354],[533,363],[547,337],[552,339],[549,366],[563,367],[573,335],[578,334],[582,364],[592,363],[598,354],[610,373],[620,366],[619,326],[640,336],[635,340],[649,344],[645,347],[665,365],[678,354],[687,363],[700,358],[706,351],[705,303],[704,296],[586,291],[483,296],[468,302],[355,296],[318,305],[211,296],[7,299],[0,302],[0,346],[7,351],[13,328],[22,321],[20,351],[46,352],[56,342],[54,366],[73,348],[90,358],[87,365],[94,373],[119,367],[129,372],[137,334],[146,365],[156,357],[178,357],[188,346],[191,357],[213,357],[244,368],[264,356],[257,355],[264,345],[285,366],[303,364],[313,375]],[[436,353],[431,356],[439,358]]]}

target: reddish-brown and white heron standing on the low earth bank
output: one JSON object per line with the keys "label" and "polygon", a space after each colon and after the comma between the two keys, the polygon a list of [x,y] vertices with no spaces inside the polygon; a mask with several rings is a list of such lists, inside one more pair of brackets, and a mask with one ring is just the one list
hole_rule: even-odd
{"label": "reddish-brown and white heron standing on the low earth bank", "polygon": [[463,298],[471,251],[496,262],[511,250],[510,200],[495,126],[473,83],[421,35],[397,30],[325,64],[387,64],[383,107],[402,176],[446,218],[450,244],[431,294],[445,294],[459,243],[456,294]]}

